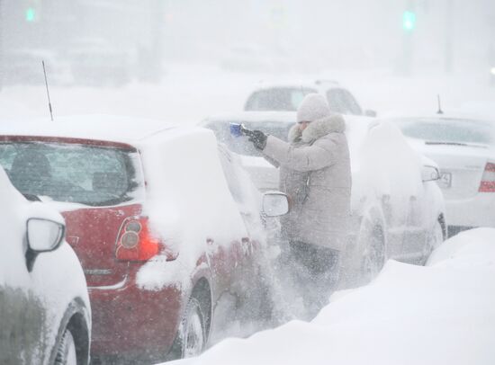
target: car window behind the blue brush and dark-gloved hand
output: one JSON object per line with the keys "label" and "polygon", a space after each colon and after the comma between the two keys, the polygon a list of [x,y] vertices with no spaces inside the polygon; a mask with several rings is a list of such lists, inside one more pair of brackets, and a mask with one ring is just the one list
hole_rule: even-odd
{"label": "car window behind the blue brush and dark-gloved hand", "polygon": [[262,156],[261,153],[253,146],[251,142],[247,140],[247,137],[234,137],[230,134],[230,123],[242,123],[247,129],[259,129],[264,133],[280,138],[284,141],[287,140],[289,129],[293,126],[292,123],[284,123],[280,121],[262,121],[262,122],[250,122],[242,120],[222,120],[211,121],[204,127],[213,130],[216,138],[224,143],[229,150],[246,156]]}

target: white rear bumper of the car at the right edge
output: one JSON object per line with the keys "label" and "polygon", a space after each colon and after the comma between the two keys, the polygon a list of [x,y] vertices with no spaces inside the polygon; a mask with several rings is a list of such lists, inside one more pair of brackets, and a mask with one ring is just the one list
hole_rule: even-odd
{"label": "white rear bumper of the car at the right edge", "polygon": [[495,192],[465,200],[446,200],[446,222],[455,227],[495,227]]}

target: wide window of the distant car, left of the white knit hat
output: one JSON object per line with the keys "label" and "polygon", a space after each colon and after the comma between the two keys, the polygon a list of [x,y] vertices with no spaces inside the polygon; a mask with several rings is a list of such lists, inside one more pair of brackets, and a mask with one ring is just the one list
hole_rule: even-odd
{"label": "wide window of the distant car, left of the white knit hat", "polygon": [[316,90],[303,87],[274,87],[252,93],[247,99],[247,111],[297,111],[308,93]]}

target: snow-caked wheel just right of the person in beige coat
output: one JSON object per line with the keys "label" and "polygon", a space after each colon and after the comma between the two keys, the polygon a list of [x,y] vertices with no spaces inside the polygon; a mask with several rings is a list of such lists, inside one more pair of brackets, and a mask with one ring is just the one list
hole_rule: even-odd
{"label": "snow-caked wheel just right of the person in beige coat", "polygon": [[367,240],[361,273],[365,280],[372,280],[383,268],[385,263],[385,237],[383,228],[374,226],[370,230]]}

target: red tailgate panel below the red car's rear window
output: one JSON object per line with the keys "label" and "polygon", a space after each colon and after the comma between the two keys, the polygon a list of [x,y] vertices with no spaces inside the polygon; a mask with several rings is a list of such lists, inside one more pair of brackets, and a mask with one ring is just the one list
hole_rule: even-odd
{"label": "red tailgate panel below the red car's rear window", "polygon": [[115,286],[125,279],[127,262],[115,258],[115,242],[125,218],[139,215],[140,204],[62,212],[67,242],[76,251],[88,287]]}

